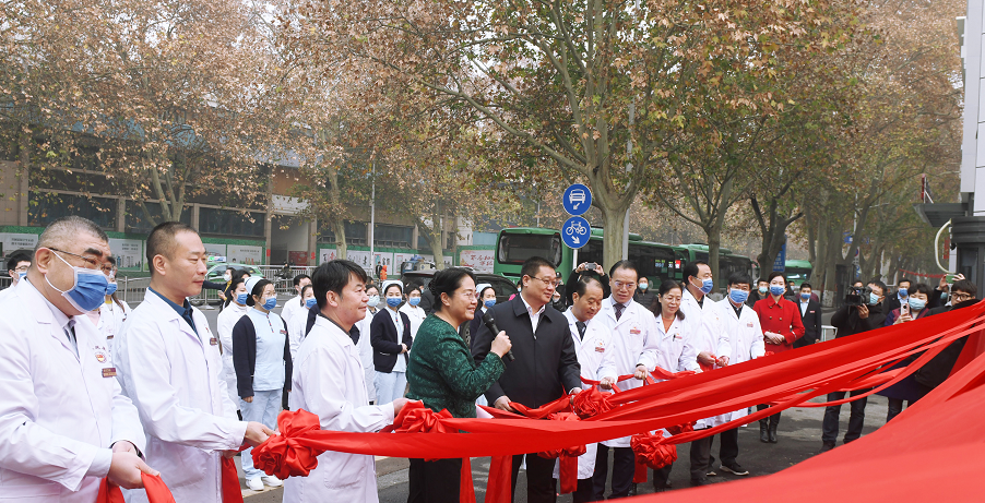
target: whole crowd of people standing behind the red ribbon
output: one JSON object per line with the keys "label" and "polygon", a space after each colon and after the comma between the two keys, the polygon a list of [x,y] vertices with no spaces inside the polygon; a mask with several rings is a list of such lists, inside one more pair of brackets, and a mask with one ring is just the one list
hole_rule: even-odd
{"label": "whole crowd of people standing behind the red ribbon", "polygon": [[[162,224],[147,237],[146,258],[150,287],[132,310],[116,296],[109,240],[90,220],[56,220],[33,256],[9,260],[14,284],[0,292],[7,384],[0,498],[88,502],[108,478],[128,501],[147,501],[143,472],[159,474],[177,502],[221,502],[222,459],[242,451],[249,489],[283,484],[285,502],[373,502],[372,456],[325,452],[308,477],[281,481],[253,466],[250,448],[276,434],[282,409],[305,409],[322,429],[348,432],[382,430],[410,400],[455,418],[491,417],[480,406],[537,408],[581,393],[585,383],[628,391],[667,372],[714,372],[821,337],[811,286],[787,297],[782,273],[760,280],[733,273],[715,301],[709,297],[715,278],[703,262],[686,264],[683,282],[656,285],[624,260],[607,271],[580,264],[562,292],[555,265],[542,258],[523,264],[519,291],[501,302],[467,268],[440,271],[426,286],[375,285],[355,263],[334,260],[295,277],[297,297],[280,314],[270,280],[230,268],[224,284],[211,286],[225,299],[213,333],[188,302],[206,283],[198,232]],[[960,275],[936,288],[907,279],[899,286],[889,295],[878,279],[855,285],[858,301],[833,314],[836,336],[976,301],[975,285]],[[881,392],[887,421],[947,378],[964,340]],[[833,392],[828,400],[844,396]],[[865,406],[865,398],[851,403],[845,443],[861,436]],[[835,446],[840,409],[824,411],[822,451]],[[749,412],[704,418],[693,428]],[[761,442],[779,442],[780,419],[775,412],[759,421]],[[717,470],[749,475],[738,463],[738,429],[715,436],[690,444],[691,486],[707,484]],[[556,459],[513,456],[514,493],[521,467],[527,501],[556,501]],[[411,459],[408,502],[459,501],[461,469],[461,459]],[[670,489],[672,470],[673,464],[653,470],[655,490]],[[630,438],[589,445],[578,459],[573,500],[630,495],[633,472]]]}

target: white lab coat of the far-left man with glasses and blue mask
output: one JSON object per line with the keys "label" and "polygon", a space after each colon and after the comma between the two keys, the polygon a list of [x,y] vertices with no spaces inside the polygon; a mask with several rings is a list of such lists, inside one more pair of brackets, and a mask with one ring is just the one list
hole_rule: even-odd
{"label": "white lab coat of the far-left man with glasses and blue mask", "polygon": [[68,320],[26,280],[0,304],[0,501],[93,502],[110,446],[146,448],[106,338],[75,316],[76,356]]}

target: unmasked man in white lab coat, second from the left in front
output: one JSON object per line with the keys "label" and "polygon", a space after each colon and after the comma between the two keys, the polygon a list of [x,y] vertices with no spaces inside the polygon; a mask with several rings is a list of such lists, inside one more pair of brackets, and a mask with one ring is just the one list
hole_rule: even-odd
{"label": "unmasked man in white lab coat, second from the left in front", "polygon": [[[222,501],[221,456],[273,432],[240,421],[229,399],[218,338],[188,297],[202,290],[205,247],[198,232],[177,221],[147,237],[151,286],[144,301],[114,339],[123,393],[140,411],[147,434],[147,462],[161,470],[177,503]],[[128,501],[146,501],[130,491]]]}

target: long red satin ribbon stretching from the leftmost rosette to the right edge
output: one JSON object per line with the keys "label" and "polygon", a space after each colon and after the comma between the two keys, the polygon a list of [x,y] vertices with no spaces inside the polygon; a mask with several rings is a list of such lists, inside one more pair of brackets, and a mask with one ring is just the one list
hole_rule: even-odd
{"label": "long red satin ribbon stretching from the leftmost rosette to the right edge", "polygon": [[[951,342],[981,332],[983,330],[981,326],[973,325],[983,322],[985,322],[985,303],[980,303],[930,319],[868,332],[864,337],[843,337],[784,351],[769,358],[728,366],[714,372],[670,374],[673,376],[667,381],[606,397],[605,403],[612,405],[612,408],[582,420],[521,419],[519,415],[487,409],[496,418],[511,420],[455,419],[432,414],[427,417],[420,416],[418,419],[434,423],[428,430],[430,433],[390,435],[295,428],[296,420],[306,421],[304,412],[285,411],[278,418],[282,435],[272,436],[254,448],[254,463],[266,472],[297,476],[307,474],[307,470],[295,467],[299,460],[309,457],[310,453],[329,450],[416,458],[503,456],[505,460],[494,459],[494,464],[497,465],[497,470],[494,471],[502,474],[509,466],[508,456],[517,453],[556,451],[571,445],[589,444],[675,426],[681,426],[680,434],[664,439],[664,443],[673,445],[691,442],[741,423],[753,422],[784,408],[824,406],[827,404],[808,404],[808,400],[832,391],[858,390],[881,382],[879,387],[869,392],[875,393],[891,386],[933,359]],[[974,336],[970,338],[965,351],[982,346],[985,346],[982,337]],[[914,355],[919,356],[906,368],[894,369],[893,373],[880,373],[880,369],[886,364]],[[985,373],[985,360],[970,358],[962,355],[959,363],[971,361],[976,364],[976,369],[982,368],[982,372]],[[965,362],[964,366],[971,368],[972,363]],[[977,384],[985,381],[982,376],[977,379],[978,381],[975,381]],[[947,387],[948,383],[940,387]],[[854,398],[862,396],[865,395]],[[925,399],[904,411],[904,415],[912,409],[926,408]],[[836,403],[844,402],[847,400]],[[568,397],[562,397],[556,403],[525,411],[536,417],[570,411],[570,407],[568,405],[562,407],[561,403],[570,402]],[[756,411],[714,428],[686,431],[686,426],[692,421],[763,403],[773,403],[775,407]],[[985,406],[980,408],[985,409]],[[410,412],[406,417],[411,417]],[[317,424],[317,420],[315,422]],[[408,428],[417,427],[411,424]],[[461,430],[470,434],[467,440],[462,442],[436,442],[430,436],[436,429]],[[968,458],[971,457],[963,459]],[[494,475],[490,475],[490,486],[492,477]],[[509,483],[506,488],[508,495]],[[487,493],[487,501],[488,495]]]}

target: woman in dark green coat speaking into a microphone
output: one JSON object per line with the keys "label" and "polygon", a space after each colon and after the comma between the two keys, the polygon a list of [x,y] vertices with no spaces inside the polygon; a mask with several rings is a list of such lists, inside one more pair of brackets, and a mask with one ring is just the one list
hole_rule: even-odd
{"label": "woman in dark green coat speaking into a microphone", "polygon": [[[407,398],[422,400],[436,412],[448,409],[453,417],[474,418],[475,400],[502,374],[510,338],[500,332],[489,356],[476,366],[456,330],[475,314],[475,275],[451,267],[436,274],[428,289],[435,296],[435,313],[420,324],[414,339]],[[411,459],[407,503],[458,502],[461,469],[461,459]]]}

